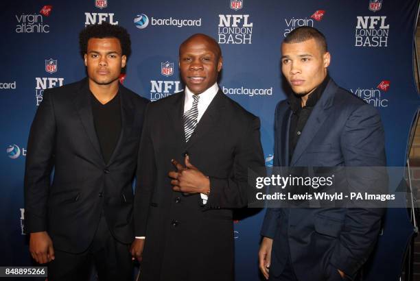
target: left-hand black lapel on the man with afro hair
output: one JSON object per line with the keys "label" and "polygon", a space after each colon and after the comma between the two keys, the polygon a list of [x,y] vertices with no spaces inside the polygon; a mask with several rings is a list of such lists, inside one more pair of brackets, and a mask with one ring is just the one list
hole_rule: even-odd
{"label": "left-hand black lapel on the man with afro hair", "polygon": [[80,120],[82,121],[84,130],[87,136],[89,137],[89,140],[91,140],[91,143],[97,153],[97,156],[100,156],[100,159],[102,160],[102,162],[104,162],[99,140],[97,140],[95,124],[93,123],[91,93],[89,90],[89,82],[87,79],[84,80],[82,86],[80,87],[79,93],[75,96],[74,104],[76,110],[78,111]]}

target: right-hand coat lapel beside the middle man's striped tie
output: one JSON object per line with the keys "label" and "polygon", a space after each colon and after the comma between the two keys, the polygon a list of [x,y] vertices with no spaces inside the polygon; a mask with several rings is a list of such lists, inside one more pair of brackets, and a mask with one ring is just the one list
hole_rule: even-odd
{"label": "right-hand coat lapel beside the middle man's striped tie", "polygon": [[[200,122],[198,122],[196,129],[194,130],[193,134],[188,140],[187,147],[191,147],[191,145],[194,145],[194,143],[197,142],[202,136],[206,134],[210,130],[213,125],[216,125],[218,123],[218,118],[220,116],[220,112],[223,112],[224,108],[224,94],[219,89],[218,93],[215,95],[211,103],[209,104],[209,107],[205,111],[205,113],[202,115]],[[184,137],[185,140],[185,137]]]}

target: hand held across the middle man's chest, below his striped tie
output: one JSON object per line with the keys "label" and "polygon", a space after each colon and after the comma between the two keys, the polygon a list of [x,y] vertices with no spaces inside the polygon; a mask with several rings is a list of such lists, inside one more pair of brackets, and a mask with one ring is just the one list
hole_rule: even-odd
{"label": "hand held across the middle man's chest, below his striped tie", "polygon": [[171,180],[172,189],[183,193],[208,193],[210,190],[210,180],[201,173],[193,164],[189,162],[189,156],[185,156],[185,167],[172,160],[176,171],[171,171],[168,175]]}

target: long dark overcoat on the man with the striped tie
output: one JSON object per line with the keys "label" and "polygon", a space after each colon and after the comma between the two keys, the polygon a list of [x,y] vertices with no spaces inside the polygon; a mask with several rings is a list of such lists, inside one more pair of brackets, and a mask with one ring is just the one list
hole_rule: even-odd
{"label": "long dark overcoat on the man with the striped tie", "polygon": [[[232,208],[247,205],[248,168],[264,166],[259,118],[221,90],[185,143],[185,94],[150,103],[141,137],[135,232],[145,236],[141,280],[233,280]],[[171,159],[208,175],[211,193],[172,191]]]}

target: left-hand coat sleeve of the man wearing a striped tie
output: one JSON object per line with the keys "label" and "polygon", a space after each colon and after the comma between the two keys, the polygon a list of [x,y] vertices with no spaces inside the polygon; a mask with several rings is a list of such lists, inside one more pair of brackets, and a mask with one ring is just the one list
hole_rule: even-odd
{"label": "left-hand coat sleeve of the man wearing a striped tie", "polygon": [[156,161],[154,158],[152,138],[150,136],[151,104],[149,103],[146,108],[137,160],[137,182],[134,202],[135,236],[145,236],[150,201],[156,179]]}

